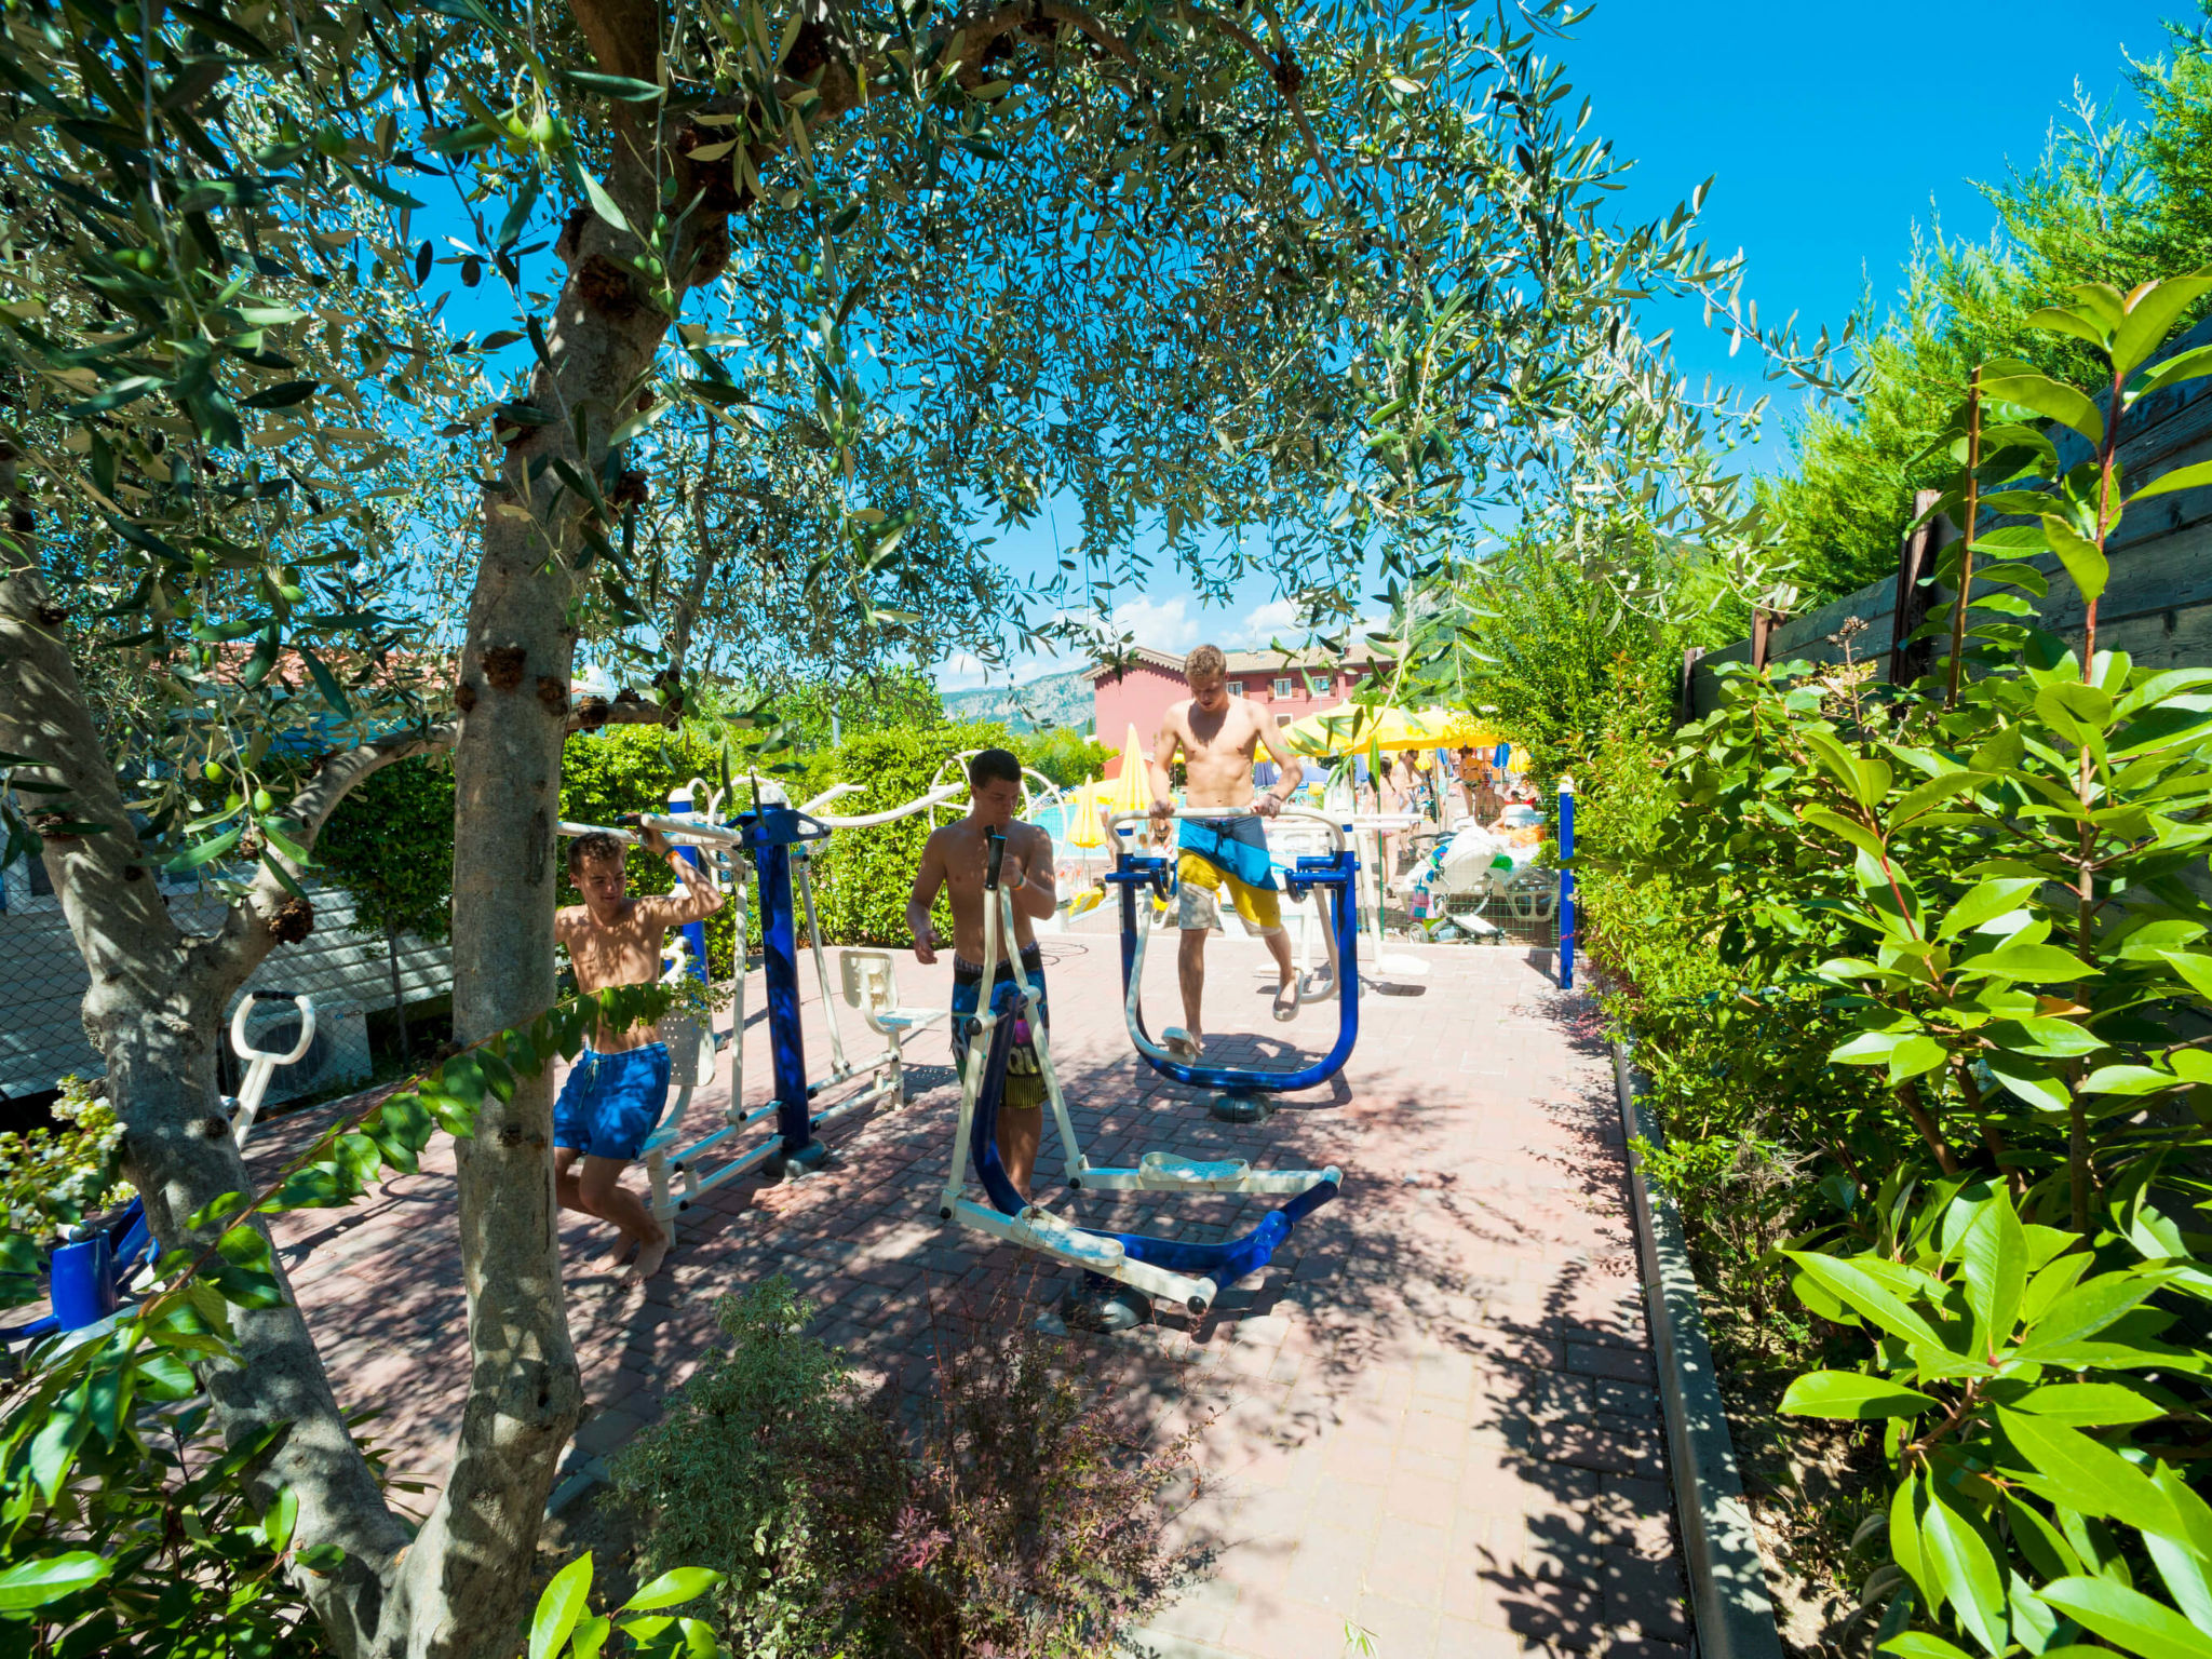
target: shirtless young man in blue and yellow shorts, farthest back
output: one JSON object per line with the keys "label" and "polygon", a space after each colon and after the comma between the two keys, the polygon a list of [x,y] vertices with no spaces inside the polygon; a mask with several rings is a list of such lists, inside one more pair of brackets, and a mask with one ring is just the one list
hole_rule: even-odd
{"label": "shirtless young man in blue and yellow shorts, farthest back", "polygon": [[[1290,960],[1290,933],[1283,931],[1283,905],[1274,891],[1274,869],[1267,863],[1267,832],[1261,818],[1272,818],[1298,792],[1305,768],[1298,757],[1279,745],[1274,719],[1248,697],[1230,697],[1223,675],[1228,659],[1217,646],[1199,646],[1183,664],[1190,697],[1168,708],[1168,719],[1152,743],[1152,821],[1166,827],[1175,812],[1175,785],[1168,763],[1183,757],[1188,799],[1192,807],[1223,807],[1219,818],[1183,821],[1181,858],[1177,863],[1179,914],[1183,931],[1177,971],[1183,982],[1183,1029],[1192,1053],[1206,1044],[1199,1004],[1206,1000],[1206,936],[1219,916],[1217,889],[1228,883],[1237,914],[1267,940],[1279,975],[1274,1018],[1298,1013],[1298,969]],[[1265,750],[1281,776],[1265,794],[1252,794],[1252,754]]]}

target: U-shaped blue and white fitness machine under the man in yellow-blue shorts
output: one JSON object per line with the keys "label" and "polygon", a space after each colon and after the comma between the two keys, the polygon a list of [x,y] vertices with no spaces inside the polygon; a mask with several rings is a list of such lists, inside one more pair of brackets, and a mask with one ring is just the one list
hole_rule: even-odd
{"label": "U-shaped blue and white fitness machine under the man in yellow-blue shorts", "polygon": [[[1177,818],[1223,818],[1219,807],[1179,807]],[[1113,821],[1117,852],[1115,867],[1106,874],[1110,887],[1121,889],[1121,1013],[1128,1022],[1130,1042],[1137,1053],[1161,1077],[1194,1088],[1214,1088],[1214,1117],[1232,1124],[1252,1124],[1272,1110],[1265,1095],[1283,1095],[1296,1088],[1323,1084],[1345,1068],[1352,1044],[1360,1035],[1360,911],[1358,911],[1358,854],[1345,838],[1345,827],[1321,812],[1283,807],[1276,823],[1321,825],[1327,836],[1327,854],[1301,854],[1296,863],[1281,872],[1283,894],[1290,900],[1312,896],[1323,911],[1321,936],[1329,951],[1329,998],[1336,1002],[1336,1042],[1310,1066],[1298,1071],[1245,1071],[1241,1066],[1208,1066],[1199,1060],[1181,1060],[1170,1048],[1152,1042],[1144,1029],[1144,945],[1150,918],[1139,916],[1137,894],[1148,889],[1161,898],[1175,891],[1175,869],[1179,852],[1137,854],[1128,849],[1137,825],[1148,823],[1146,812],[1124,812]],[[1298,1002],[1305,1002],[1305,973],[1298,973]],[[1161,1035],[1170,1035],[1166,1029]]]}

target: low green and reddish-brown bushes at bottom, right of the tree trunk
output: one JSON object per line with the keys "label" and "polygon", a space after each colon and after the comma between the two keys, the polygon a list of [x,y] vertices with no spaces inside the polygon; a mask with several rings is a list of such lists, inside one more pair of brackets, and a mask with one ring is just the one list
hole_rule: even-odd
{"label": "low green and reddish-brown bushes at bottom, right of the tree trunk", "polygon": [[723,1301],[730,1347],[617,1460],[648,1568],[714,1571],[739,1652],[1115,1652],[1168,1584],[1157,1504],[1188,1442],[1128,1447],[1006,1298],[940,1321],[909,1453],[807,1314],[781,1279]]}

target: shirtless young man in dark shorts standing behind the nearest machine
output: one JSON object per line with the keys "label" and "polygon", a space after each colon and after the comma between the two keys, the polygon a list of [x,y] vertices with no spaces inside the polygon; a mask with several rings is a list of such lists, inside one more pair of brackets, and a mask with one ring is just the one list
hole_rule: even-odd
{"label": "shirtless young man in dark shorts standing behind the nearest machine", "polygon": [[[938,889],[947,891],[953,911],[953,1064],[967,1071],[967,1018],[982,1002],[982,918],[984,874],[989,869],[989,832],[1006,836],[998,867],[1000,887],[1013,894],[1013,942],[1022,951],[1022,973],[1037,993],[1037,1022],[1051,1031],[1044,1006],[1044,956],[1037,951],[1031,920],[1044,920],[1060,905],[1053,891],[1053,838],[1033,823],[1022,823],[1013,810],[1022,803],[1022,763],[1006,750],[982,750],[969,761],[969,812],[964,818],[931,832],[922,863],[914,872],[907,896],[907,927],[914,929],[914,960],[936,964],[938,933],[929,907]],[[1000,962],[991,984],[991,1006],[1006,1013],[1013,1006],[1013,962]],[[1013,1057],[1006,1062],[1006,1097],[998,1113],[998,1157],[1015,1192],[1029,1197],[1029,1177],[1037,1168],[1037,1144],[1044,1139],[1044,1071],[1037,1048],[1020,1018],[1013,1026]]]}

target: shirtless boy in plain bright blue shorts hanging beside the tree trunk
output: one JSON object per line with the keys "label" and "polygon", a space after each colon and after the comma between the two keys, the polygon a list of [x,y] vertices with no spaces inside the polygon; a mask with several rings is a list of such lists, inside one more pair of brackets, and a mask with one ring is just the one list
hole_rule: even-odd
{"label": "shirtless boy in plain bright blue shorts hanging beside the tree trunk", "polygon": [[[708,874],[670,847],[659,830],[644,832],[644,847],[668,860],[677,891],[630,898],[624,891],[624,847],[611,834],[568,843],[568,880],[584,902],[553,914],[553,938],[568,947],[575,989],[586,995],[661,978],[668,929],[721,909],[721,894]],[[553,1192],[564,1210],[615,1223],[608,1263],[637,1248],[628,1283],[657,1274],[668,1254],[668,1230],[622,1186],[624,1166],[644,1152],[666,1106],[668,1044],[655,1026],[593,1031],[553,1104]],[[582,1175],[577,1159],[584,1161]]]}

